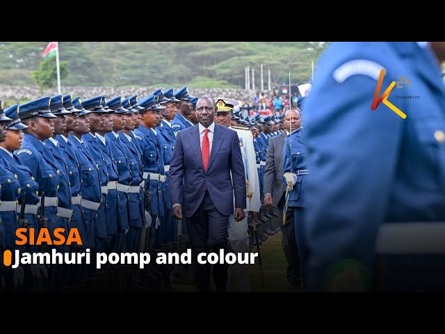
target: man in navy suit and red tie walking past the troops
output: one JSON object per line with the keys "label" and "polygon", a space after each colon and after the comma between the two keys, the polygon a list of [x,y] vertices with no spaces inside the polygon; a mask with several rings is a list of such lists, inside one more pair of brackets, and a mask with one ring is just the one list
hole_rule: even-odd
{"label": "man in navy suit and red tie walking past the troops", "polygon": [[[186,217],[197,291],[209,292],[210,265],[198,264],[197,255],[229,250],[229,216],[245,218],[245,172],[238,134],[213,121],[218,110],[213,97],[204,95],[196,107],[200,122],[176,137],[169,190],[173,216],[181,219],[184,211]],[[227,268],[213,264],[218,292],[226,290]]]}

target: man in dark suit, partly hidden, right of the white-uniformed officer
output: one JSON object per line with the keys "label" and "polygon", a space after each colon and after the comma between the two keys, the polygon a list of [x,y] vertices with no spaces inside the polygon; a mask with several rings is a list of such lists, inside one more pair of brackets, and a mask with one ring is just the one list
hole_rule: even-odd
{"label": "man in dark suit, partly hidden, right of the white-uniformed officer", "polygon": [[[266,169],[264,170],[264,205],[278,207],[281,223],[284,209],[286,186],[282,182],[283,148],[286,136],[301,126],[300,111],[289,109],[284,113],[284,129],[280,135],[269,139],[266,153]],[[290,132],[289,132],[290,130]],[[293,208],[288,207],[286,221],[282,225],[282,246],[287,261],[287,280],[292,289],[299,289],[301,284],[300,256],[298,255],[295,226],[293,224]]]}

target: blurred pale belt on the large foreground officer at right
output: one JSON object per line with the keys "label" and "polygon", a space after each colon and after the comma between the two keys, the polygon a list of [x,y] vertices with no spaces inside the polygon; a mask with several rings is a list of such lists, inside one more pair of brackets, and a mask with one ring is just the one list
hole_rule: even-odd
{"label": "blurred pale belt on the large foreground officer at right", "polygon": [[445,221],[385,223],[377,234],[378,254],[445,254]]}

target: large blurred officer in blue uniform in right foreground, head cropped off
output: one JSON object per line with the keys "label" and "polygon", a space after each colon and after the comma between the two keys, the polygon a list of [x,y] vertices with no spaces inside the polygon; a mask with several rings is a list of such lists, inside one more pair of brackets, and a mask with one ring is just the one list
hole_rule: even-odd
{"label": "large blurred officer in blue uniform in right foreground, head cropped off", "polygon": [[445,290],[444,60],[444,42],[339,42],[318,62],[309,291]]}

